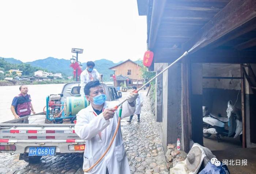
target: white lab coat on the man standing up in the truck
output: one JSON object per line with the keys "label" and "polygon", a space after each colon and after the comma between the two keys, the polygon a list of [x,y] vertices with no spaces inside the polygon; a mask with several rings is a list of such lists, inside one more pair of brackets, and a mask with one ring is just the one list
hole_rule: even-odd
{"label": "white lab coat on the man standing up in the truck", "polygon": [[81,83],[80,83],[80,86],[81,86],[80,94],[81,94],[81,96],[84,95],[84,86],[86,85],[86,83],[91,82],[93,80],[99,80],[99,78],[100,78],[100,75],[99,75],[98,71],[95,68],[93,68],[93,71],[91,71],[91,76],[92,76],[92,79],[90,79],[90,74],[87,71],[87,68],[86,68],[86,70],[84,70],[81,73],[81,75],[80,75],[80,81],[81,81]]}

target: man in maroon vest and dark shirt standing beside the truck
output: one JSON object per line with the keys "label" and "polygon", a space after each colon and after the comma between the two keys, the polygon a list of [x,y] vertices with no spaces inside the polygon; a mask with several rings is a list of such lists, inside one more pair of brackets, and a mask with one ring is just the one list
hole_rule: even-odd
{"label": "man in maroon vest and dark shirt standing beside the truck", "polygon": [[20,94],[15,96],[12,100],[11,111],[15,119],[31,114],[35,114],[34,108],[31,103],[30,95],[27,94],[29,91],[26,85],[19,87]]}

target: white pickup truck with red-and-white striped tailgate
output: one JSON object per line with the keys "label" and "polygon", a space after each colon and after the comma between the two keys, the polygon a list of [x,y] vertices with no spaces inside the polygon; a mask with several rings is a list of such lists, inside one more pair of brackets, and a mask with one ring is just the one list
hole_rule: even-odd
{"label": "white pickup truck with red-and-white striped tailgate", "polygon": [[[62,100],[68,96],[80,96],[80,82],[64,85]],[[121,94],[112,85],[102,83],[107,100],[118,100]],[[42,113],[41,113],[42,114]],[[29,116],[0,123],[0,153],[19,153],[20,160],[34,163],[44,155],[83,153],[85,141],[76,135],[70,119],[54,124],[45,119],[44,124],[29,124]]]}

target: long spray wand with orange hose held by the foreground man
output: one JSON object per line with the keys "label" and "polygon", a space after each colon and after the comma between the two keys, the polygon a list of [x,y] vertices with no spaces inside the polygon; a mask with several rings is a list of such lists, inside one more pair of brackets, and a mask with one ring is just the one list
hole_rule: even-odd
{"label": "long spray wand with orange hose held by the foreground man", "polygon": [[[161,72],[159,72],[156,76],[154,76],[154,78],[152,78],[151,80],[149,80],[147,83],[145,83],[142,87],[140,87],[138,90],[135,90],[133,93],[138,93],[140,90],[142,90],[147,84],[149,84],[150,82],[152,82],[154,79],[156,79],[159,75],[163,74],[163,72],[165,72],[166,70],[168,70],[171,66],[173,66],[175,63],[177,63],[180,59],[184,58],[185,56],[188,55],[188,52],[185,51],[184,54],[182,56],[180,56],[178,59],[176,59],[173,63],[171,63],[168,67],[166,67],[164,70],[162,70]],[[93,167],[95,167],[100,161],[101,159],[106,155],[106,153],[109,151],[114,139],[116,138],[116,134],[117,134],[117,131],[119,129],[119,126],[120,126],[120,122],[121,122],[121,115],[122,115],[122,104],[124,102],[126,102],[127,99],[125,99],[123,102],[119,103],[117,106],[115,106],[114,108],[119,108],[119,115],[118,115],[118,123],[117,123],[117,127],[116,127],[116,131],[114,132],[114,135],[113,135],[113,138],[107,148],[107,150],[105,151],[105,153],[103,153],[103,155],[101,156],[101,158],[98,159],[98,161],[96,161],[94,163],[94,165],[92,165],[89,169],[84,169],[83,171],[84,172],[88,172],[90,171],[91,169],[93,169]]]}

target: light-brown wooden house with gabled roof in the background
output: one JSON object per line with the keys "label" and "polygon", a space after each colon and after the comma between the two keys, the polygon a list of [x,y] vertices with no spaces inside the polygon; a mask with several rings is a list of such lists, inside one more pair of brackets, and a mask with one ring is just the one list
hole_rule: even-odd
{"label": "light-brown wooden house with gabled roof in the background", "polygon": [[109,69],[113,70],[114,75],[116,75],[115,87],[120,86],[120,83],[126,83],[126,86],[136,86],[137,88],[143,85],[142,66],[130,59]]}

